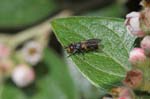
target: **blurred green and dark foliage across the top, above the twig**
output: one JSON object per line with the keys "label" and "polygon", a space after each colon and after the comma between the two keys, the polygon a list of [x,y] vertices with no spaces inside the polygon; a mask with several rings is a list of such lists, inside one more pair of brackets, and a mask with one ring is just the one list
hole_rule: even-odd
{"label": "blurred green and dark foliage across the top, above the twig", "polygon": [[40,24],[64,9],[73,15],[124,17],[140,0],[0,0],[0,31],[17,32]]}

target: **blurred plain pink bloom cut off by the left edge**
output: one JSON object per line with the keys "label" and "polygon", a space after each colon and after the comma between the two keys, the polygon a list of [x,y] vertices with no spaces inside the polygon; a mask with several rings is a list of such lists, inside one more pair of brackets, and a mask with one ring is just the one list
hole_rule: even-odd
{"label": "blurred plain pink bloom cut off by the left edge", "polygon": [[10,49],[4,44],[0,43],[0,59],[6,58],[10,55]]}

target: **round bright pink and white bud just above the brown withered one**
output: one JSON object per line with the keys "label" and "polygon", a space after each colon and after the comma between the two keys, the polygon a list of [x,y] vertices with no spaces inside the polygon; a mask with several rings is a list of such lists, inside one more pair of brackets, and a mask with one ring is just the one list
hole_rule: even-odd
{"label": "round bright pink and white bud just above the brown withered one", "polygon": [[132,65],[139,65],[146,61],[146,55],[142,48],[134,48],[129,55],[129,62]]}

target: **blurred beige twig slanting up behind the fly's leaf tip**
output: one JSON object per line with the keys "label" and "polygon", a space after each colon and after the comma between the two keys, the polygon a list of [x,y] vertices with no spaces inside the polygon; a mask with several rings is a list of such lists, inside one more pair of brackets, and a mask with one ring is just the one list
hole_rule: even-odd
{"label": "blurred beige twig slanting up behind the fly's leaf tip", "polygon": [[40,25],[34,26],[30,29],[21,31],[14,35],[10,40],[9,40],[9,45],[11,48],[16,48],[17,45],[23,43],[26,40],[29,40],[33,37],[36,36],[42,36],[44,33],[50,32],[51,31],[51,26],[50,22],[55,19],[55,18],[60,18],[60,17],[67,17],[72,15],[71,11],[64,10],[60,12],[58,15],[54,16],[53,18],[50,18],[46,20],[45,22],[41,23]]}

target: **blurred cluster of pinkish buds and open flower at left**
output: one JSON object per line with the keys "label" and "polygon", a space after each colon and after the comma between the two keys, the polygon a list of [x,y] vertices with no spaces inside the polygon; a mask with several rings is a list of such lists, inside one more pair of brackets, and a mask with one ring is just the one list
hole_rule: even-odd
{"label": "blurred cluster of pinkish buds and open flower at left", "polygon": [[[35,80],[32,66],[42,59],[42,45],[37,41],[29,41],[18,52],[11,52],[11,48],[6,45],[0,43],[0,81],[11,77],[18,87],[30,85]],[[15,61],[18,60],[17,64],[11,54],[15,57]]]}

